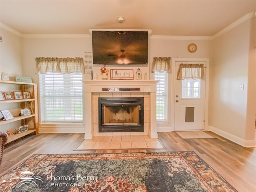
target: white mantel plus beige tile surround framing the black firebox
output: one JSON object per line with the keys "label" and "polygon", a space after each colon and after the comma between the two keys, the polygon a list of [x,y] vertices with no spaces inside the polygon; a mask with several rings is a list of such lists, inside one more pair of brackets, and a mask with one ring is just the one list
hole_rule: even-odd
{"label": "white mantel plus beige tile surround framing the black firebox", "polygon": [[[158,80],[83,80],[85,100],[85,139],[93,136],[148,135],[157,138],[156,132],[156,84]],[[140,88],[136,91],[104,91],[102,88]],[[99,97],[144,97],[144,132],[98,131]]]}

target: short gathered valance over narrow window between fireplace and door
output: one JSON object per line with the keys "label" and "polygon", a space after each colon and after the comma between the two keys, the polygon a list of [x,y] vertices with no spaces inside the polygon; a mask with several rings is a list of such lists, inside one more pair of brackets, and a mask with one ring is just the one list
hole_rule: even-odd
{"label": "short gathered valance over narrow window between fireplace and door", "polygon": [[165,72],[171,70],[170,57],[154,57],[152,72]]}

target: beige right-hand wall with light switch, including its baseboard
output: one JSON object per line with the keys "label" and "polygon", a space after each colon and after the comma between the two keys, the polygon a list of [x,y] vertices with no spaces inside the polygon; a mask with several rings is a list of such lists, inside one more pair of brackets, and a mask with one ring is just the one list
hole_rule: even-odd
{"label": "beige right-hand wall with light switch, including its baseboard", "polygon": [[[253,73],[248,66],[250,26],[249,19],[213,40],[210,68],[209,126],[243,146],[255,145],[254,126],[248,124],[253,121],[247,119],[248,110],[255,112],[255,104],[248,100],[251,91],[255,96],[255,90],[248,86],[255,82],[255,73],[254,79],[248,79],[248,74]],[[244,85],[244,90],[240,90],[240,85]]]}

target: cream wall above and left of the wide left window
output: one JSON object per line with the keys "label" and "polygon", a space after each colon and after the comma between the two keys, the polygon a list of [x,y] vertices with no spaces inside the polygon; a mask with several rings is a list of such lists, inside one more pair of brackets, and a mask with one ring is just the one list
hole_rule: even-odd
{"label": "cream wall above and left of the wide left window", "polygon": [[82,57],[91,50],[90,38],[22,38],[23,75],[39,83],[36,57]]}

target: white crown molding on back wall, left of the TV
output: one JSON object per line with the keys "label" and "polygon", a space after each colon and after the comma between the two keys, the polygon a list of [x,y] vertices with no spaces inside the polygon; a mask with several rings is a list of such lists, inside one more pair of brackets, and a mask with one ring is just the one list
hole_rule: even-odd
{"label": "white crown molding on back wall, left of the TV", "polygon": [[39,39],[90,39],[91,35],[82,34],[22,34],[22,38]]}

